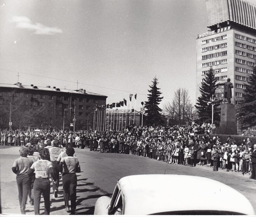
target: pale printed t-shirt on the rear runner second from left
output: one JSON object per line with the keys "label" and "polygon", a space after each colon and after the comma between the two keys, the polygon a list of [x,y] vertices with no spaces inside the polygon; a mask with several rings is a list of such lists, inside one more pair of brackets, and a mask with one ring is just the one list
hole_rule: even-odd
{"label": "pale printed t-shirt on the rear runner second from left", "polygon": [[49,179],[50,167],[53,167],[50,161],[40,159],[32,164],[31,169],[34,170],[37,179]]}

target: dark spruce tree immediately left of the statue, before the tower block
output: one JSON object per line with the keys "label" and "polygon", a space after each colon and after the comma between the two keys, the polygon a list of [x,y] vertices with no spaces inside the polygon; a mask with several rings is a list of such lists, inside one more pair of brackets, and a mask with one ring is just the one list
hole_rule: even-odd
{"label": "dark spruce tree immediately left of the statue, before the tower block", "polygon": [[[216,89],[216,79],[212,67],[206,73],[204,82],[199,88],[201,96],[198,97],[195,105],[198,112],[199,123],[212,123],[212,105],[208,105],[211,102],[212,92],[211,90]],[[215,101],[214,105],[214,123],[219,125],[220,122],[220,101]]]}

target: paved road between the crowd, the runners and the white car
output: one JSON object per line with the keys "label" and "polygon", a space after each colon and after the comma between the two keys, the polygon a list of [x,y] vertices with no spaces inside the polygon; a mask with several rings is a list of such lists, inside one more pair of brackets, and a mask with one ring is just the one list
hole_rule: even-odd
{"label": "paved road between the crowd, the runners and the white car", "polygon": [[[13,161],[19,157],[19,147],[0,146],[0,149],[1,212],[20,214],[16,175],[11,170]],[[227,173],[225,170],[213,172],[212,168],[206,166],[170,165],[144,157],[90,152],[89,149],[75,149],[75,151],[82,170],[77,174],[76,214],[93,214],[96,200],[103,195],[111,196],[118,179],[136,174],[184,174],[212,178],[245,195],[256,210],[256,182],[249,179],[248,174],[243,176],[241,173]],[[170,187],[172,187],[171,183]],[[187,188],[189,187],[188,183]],[[65,212],[61,182],[59,190],[58,198],[53,198],[53,193],[51,193],[50,214],[66,215],[68,213]],[[189,196],[184,196],[184,201],[188,198]],[[202,199],[204,198],[210,200],[202,192]],[[228,195],[227,198],[220,199],[219,203],[225,200],[228,200]],[[242,206],[239,201],[237,205]],[[41,199],[40,213],[43,213],[43,210],[43,199]],[[33,207],[29,204],[26,207],[26,214],[34,214]]]}

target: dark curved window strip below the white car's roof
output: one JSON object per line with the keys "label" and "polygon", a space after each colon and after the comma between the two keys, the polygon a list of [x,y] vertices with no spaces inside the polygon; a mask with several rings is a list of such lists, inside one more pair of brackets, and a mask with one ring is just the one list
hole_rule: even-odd
{"label": "dark curved window strip below the white car's roof", "polygon": [[218,210],[184,210],[184,211],[172,211],[154,213],[151,215],[244,215],[243,213],[218,211]]}

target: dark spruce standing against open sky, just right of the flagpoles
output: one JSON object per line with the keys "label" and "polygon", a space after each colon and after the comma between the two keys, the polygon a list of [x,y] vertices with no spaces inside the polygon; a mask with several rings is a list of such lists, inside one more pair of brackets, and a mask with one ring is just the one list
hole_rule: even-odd
{"label": "dark spruce standing against open sky, just right of the flagpoles", "polygon": [[152,85],[149,85],[150,90],[148,90],[148,101],[145,102],[145,113],[147,114],[147,124],[149,125],[159,125],[163,124],[163,116],[160,114],[162,111],[161,108],[158,107],[163,97],[160,97],[162,94],[157,87],[158,79],[155,77],[152,81]]}

